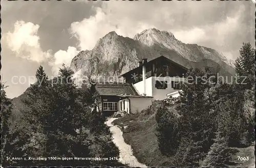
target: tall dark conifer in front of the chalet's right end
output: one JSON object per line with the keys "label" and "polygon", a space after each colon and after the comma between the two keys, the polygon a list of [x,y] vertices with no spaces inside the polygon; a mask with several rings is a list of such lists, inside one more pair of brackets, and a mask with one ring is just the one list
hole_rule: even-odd
{"label": "tall dark conifer in front of the chalet's right end", "polygon": [[[214,123],[211,119],[215,116],[209,111],[211,100],[205,94],[212,84],[209,83],[209,72],[199,68],[189,69],[186,77],[189,81],[182,85],[180,101],[176,107],[181,115],[180,125],[182,126],[178,135],[181,139],[187,139],[182,141],[183,143],[190,144],[189,158],[184,160],[191,161],[187,163],[190,166],[197,166],[198,162],[205,157],[214,138],[212,135]],[[180,148],[182,147],[185,148],[187,145],[181,143]]]}

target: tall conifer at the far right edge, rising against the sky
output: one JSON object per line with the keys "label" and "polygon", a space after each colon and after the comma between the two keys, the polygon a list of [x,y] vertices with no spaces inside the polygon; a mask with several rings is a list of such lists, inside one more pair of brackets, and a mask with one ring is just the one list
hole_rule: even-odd
{"label": "tall conifer at the far right edge, rising against the sky", "polygon": [[[237,58],[235,63],[235,69],[238,75],[235,91],[244,91],[243,94],[240,94],[239,98],[244,100],[244,102],[241,103],[241,106],[248,106],[248,103],[251,102],[253,104],[255,102],[255,63],[255,48],[253,49],[249,42],[243,43],[243,46],[240,49],[240,57]],[[255,140],[253,132],[255,114],[251,114],[249,109],[250,107],[243,108],[244,115],[247,119],[245,119],[244,122],[244,127],[246,127],[246,129],[242,134],[245,135],[244,141],[247,145]]]}

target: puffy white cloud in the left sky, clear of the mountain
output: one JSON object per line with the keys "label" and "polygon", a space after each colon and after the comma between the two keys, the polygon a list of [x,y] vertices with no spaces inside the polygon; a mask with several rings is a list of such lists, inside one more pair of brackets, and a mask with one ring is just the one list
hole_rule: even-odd
{"label": "puffy white cloud in the left sky, clear of the mountain", "polygon": [[76,47],[69,46],[67,51],[59,50],[51,54],[51,50],[42,51],[40,37],[37,35],[39,25],[32,22],[16,21],[14,31],[4,35],[5,42],[17,57],[28,59],[37,63],[47,62],[52,73],[58,75],[62,64],[70,66],[71,60],[78,54]]}

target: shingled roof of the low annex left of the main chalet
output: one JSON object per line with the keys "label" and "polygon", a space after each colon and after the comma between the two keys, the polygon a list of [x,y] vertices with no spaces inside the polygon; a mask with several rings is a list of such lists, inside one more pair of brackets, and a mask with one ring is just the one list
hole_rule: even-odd
{"label": "shingled roof of the low annex left of the main chalet", "polygon": [[139,95],[130,83],[97,82],[95,88],[100,95]]}

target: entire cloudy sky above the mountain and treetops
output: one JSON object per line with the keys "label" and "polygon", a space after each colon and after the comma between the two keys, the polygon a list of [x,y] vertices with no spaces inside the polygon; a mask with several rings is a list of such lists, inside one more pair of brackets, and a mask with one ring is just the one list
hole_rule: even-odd
{"label": "entire cloudy sky above the mountain and treetops", "polygon": [[49,77],[82,50],[115,31],[133,38],[145,29],[172,32],[236,59],[243,42],[254,46],[255,1],[1,1],[2,82],[9,98]]}

